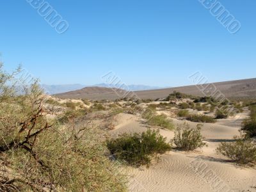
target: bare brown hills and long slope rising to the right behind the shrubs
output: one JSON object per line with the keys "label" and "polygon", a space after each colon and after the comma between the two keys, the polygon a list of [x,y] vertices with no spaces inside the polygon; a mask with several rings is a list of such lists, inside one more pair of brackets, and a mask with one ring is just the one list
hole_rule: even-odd
{"label": "bare brown hills and long slope rising to the right behind the shrubs", "polygon": [[[214,86],[213,86],[214,85]],[[215,87],[216,91],[225,95],[228,98],[256,98],[256,78],[243,79],[237,81],[225,81],[219,83],[204,84],[203,87]],[[148,86],[147,86],[148,88]],[[151,88],[151,87],[150,87]],[[103,88],[99,86],[86,87],[80,90],[56,94],[56,97],[63,99],[92,99],[92,100],[114,100],[122,97],[129,97],[136,95],[140,99],[163,99],[166,98],[173,91],[186,93],[195,96],[204,96],[202,86],[181,86],[176,88],[164,88],[156,90],[143,90],[135,92],[127,92],[123,87],[121,88]],[[130,94],[130,95],[129,95]]]}

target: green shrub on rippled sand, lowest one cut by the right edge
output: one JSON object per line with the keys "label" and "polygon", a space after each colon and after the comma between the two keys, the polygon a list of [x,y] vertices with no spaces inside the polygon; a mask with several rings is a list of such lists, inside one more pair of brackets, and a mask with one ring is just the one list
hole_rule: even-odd
{"label": "green shrub on rippled sand, lowest one cut by the right edge", "polygon": [[235,142],[224,142],[218,145],[217,152],[239,164],[255,163],[256,144],[252,140],[237,137],[235,139]]}

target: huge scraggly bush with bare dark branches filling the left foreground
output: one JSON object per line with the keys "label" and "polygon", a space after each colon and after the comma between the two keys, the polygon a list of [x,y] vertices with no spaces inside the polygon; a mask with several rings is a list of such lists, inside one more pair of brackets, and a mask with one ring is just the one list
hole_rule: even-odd
{"label": "huge scraggly bush with bare dark branches filling the left foreground", "polygon": [[2,65],[0,82],[0,191],[125,190],[98,129],[48,118],[37,84],[18,97]]}

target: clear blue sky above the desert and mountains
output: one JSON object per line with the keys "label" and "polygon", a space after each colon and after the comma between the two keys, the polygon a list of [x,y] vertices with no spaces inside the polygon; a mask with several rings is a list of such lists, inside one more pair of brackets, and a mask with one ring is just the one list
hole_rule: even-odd
{"label": "clear blue sky above the desert and mountains", "polygon": [[58,34],[26,2],[0,3],[0,52],[45,84],[96,84],[113,70],[127,84],[180,86],[255,77],[256,1],[220,2],[241,22],[232,35],[197,0],[48,0],[67,20]]}

